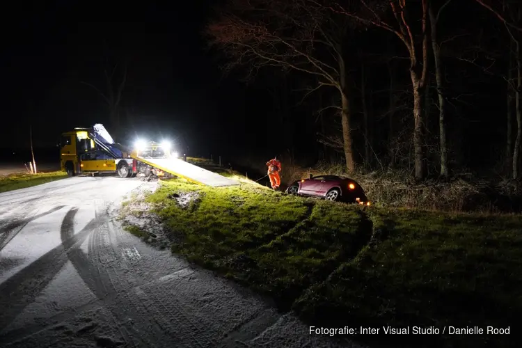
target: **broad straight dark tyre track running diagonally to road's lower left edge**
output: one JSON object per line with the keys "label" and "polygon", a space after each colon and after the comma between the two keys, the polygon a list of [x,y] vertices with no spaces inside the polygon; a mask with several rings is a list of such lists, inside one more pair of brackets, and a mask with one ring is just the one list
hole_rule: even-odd
{"label": "broad straight dark tyre track running diagonally to road's lower left edge", "polygon": [[[62,224],[72,225],[76,210],[70,209],[65,215]],[[42,290],[51,283],[63,266],[68,262],[68,253],[74,248],[79,248],[95,227],[95,221],[90,221],[80,232],[68,239],[51,251],[42,255],[38,260],[31,262],[27,267],[14,274],[0,284],[0,332],[6,329],[22,311],[33,303]],[[0,341],[5,342],[3,334]]]}

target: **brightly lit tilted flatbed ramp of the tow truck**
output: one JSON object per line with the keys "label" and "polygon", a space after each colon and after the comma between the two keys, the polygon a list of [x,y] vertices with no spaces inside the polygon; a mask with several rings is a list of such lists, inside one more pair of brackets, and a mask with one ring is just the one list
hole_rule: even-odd
{"label": "brightly lit tilted flatbed ramp of the tow truck", "polygon": [[197,184],[204,184],[210,187],[239,185],[239,182],[237,182],[236,180],[232,180],[228,177],[224,177],[223,175],[207,171],[207,169],[194,166],[193,164],[189,164],[186,161],[183,161],[182,159],[139,157],[138,155],[136,155],[135,151],[132,152],[131,157],[138,161],[142,161],[143,163],[148,164],[149,166],[158,168],[161,171],[171,173],[172,175],[178,177],[182,177],[191,182],[196,182]]}

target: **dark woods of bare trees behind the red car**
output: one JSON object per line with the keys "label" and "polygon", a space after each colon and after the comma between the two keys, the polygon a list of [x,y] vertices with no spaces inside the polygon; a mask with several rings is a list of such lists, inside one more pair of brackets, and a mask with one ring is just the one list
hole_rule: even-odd
{"label": "dark woods of bare trees behind the red car", "polygon": [[516,0],[228,0],[205,34],[292,157],[519,179],[521,28]]}

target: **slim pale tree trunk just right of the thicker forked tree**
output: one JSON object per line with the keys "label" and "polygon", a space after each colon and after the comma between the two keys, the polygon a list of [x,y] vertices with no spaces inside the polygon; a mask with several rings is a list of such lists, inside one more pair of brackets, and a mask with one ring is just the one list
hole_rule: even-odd
{"label": "slim pale tree trunk just right of the thicker forked tree", "polygon": [[448,177],[448,147],[446,144],[445,100],[443,95],[441,47],[437,42],[437,22],[432,7],[429,7],[429,22],[432,26],[432,49],[435,61],[435,80],[438,95],[438,136],[441,151],[441,176]]}

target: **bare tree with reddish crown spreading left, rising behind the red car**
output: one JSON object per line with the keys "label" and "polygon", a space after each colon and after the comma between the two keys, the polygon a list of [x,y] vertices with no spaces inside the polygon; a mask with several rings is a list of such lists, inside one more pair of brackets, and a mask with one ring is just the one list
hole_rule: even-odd
{"label": "bare tree with reddish crown spreading left, rising behind the red car", "polygon": [[338,90],[342,149],[353,172],[347,21],[307,0],[229,0],[218,11],[206,33],[228,56],[226,70],[243,66],[249,75],[266,67],[294,70],[317,77],[306,95],[325,86]]}

